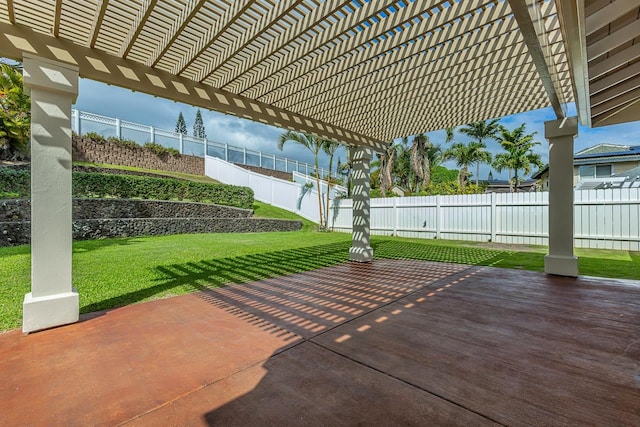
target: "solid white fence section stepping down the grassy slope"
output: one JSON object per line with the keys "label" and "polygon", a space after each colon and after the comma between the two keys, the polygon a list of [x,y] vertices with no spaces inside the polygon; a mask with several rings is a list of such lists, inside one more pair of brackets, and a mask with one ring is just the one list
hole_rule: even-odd
{"label": "solid white fence section stepping down the grassy slope", "polygon": [[225,184],[249,187],[256,200],[318,222],[318,193],[311,190],[303,194],[303,184],[252,172],[210,156],[205,157],[204,173]]}

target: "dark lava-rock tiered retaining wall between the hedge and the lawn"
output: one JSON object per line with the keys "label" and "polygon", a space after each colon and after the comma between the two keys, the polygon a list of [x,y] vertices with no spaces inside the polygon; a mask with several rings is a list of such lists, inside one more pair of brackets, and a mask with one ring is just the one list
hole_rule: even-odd
{"label": "dark lava-rock tiered retaining wall between the hedge and the lawn", "polygon": [[[300,221],[251,218],[253,212],[204,203],[126,199],[74,199],[73,238],[187,233],[296,231]],[[29,244],[29,199],[0,201],[0,246]]]}

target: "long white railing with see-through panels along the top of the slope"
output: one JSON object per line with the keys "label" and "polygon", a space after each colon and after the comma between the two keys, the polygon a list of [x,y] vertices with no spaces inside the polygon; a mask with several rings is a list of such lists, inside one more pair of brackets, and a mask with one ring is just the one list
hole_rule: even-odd
{"label": "long white railing with see-through panels along the top of the slope", "polygon": [[[249,150],[222,142],[215,142],[206,138],[195,138],[166,129],[156,129],[153,126],[142,125],[120,120],[114,117],[101,116],[85,111],[71,110],[73,131],[78,135],[95,132],[106,137],[125,138],[139,144],[155,142],[168,148],[175,148],[180,154],[204,157],[209,155],[227,162],[257,166],[282,172],[298,172],[309,175],[314,172],[313,165],[278,157],[275,154]],[[206,153],[205,153],[206,147]],[[326,176],[328,171],[320,168],[320,176]]]}

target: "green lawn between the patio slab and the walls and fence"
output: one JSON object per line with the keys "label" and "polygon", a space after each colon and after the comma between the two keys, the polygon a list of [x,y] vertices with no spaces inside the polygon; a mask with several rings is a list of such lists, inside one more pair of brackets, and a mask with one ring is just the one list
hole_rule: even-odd
{"label": "green lawn between the patio slab and the walls and fence", "polygon": [[[259,207],[262,209],[262,207]],[[82,313],[193,292],[204,287],[345,262],[351,235],[310,231],[196,234],[78,241],[73,283]],[[542,271],[546,248],[524,251],[442,240],[372,238],[376,258],[421,259]],[[585,275],[640,279],[640,253],[578,250]],[[30,248],[0,248],[0,330],[20,326],[30,287]]]}

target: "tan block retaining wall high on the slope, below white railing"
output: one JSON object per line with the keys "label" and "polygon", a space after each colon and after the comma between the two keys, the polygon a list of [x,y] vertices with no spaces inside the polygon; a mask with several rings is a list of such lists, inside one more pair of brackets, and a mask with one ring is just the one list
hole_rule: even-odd
{"label": "tan block retaining wall high on the slope, below white railing", "polygon": [[72,148],[74,161],[204,175],[204,159],[202,157],[184,154],[158,156],[142,147],[130,148],[112,142],[95,142],[76,135],[73,137]]}

